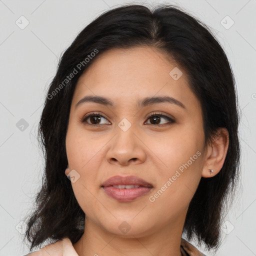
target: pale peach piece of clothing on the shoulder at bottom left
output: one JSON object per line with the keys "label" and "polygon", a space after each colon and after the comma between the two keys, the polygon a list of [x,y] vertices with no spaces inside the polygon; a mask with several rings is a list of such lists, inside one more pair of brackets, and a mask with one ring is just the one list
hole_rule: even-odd
{"label": "pale peach piece of clothing on the shoulder at bottom left", "polygon": [[78,256],[78,254],[74,250],[71,241],[67,237],[58,240],[54,243],[50,243],[42,247],[41,249],[28,253],[24,256],[63,256],[63,252],[68,252],[69,256]]}

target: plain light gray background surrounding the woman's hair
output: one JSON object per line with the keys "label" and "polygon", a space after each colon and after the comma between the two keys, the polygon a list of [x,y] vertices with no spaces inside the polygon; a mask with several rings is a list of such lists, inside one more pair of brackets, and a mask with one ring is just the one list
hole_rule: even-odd
{"label": "plain light gray background surrounding the woman's hair", "polygon": [[[43,158],[36,132],[59,56],[92,19],[126,2],[130,1],[0,0],[0,255],[28,252],[21,244],[20,220],[31,209],[41,183]],[[168,2],[210,26],[231,63],[241,115],[241,189],[225,216],[228,222],[223,224],[217,255],[256,255],[256,0]],[[29,24],[22,27],[25,22]]]}

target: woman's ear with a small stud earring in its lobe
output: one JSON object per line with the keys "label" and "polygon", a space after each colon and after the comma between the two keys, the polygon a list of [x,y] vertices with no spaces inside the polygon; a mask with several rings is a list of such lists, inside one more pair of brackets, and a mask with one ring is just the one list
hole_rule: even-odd
{"label": "woman's ear with a small stud earring in its lobe", "polygon": [[[215,176],[223,166],[229,143],[227,129],[224,127],[218,128],[212,140],[213,141],[207,145],[205,163],[201,173],[201,176],[205,178]],[[208,169],[212,169],[213,172],[210,174]]]}

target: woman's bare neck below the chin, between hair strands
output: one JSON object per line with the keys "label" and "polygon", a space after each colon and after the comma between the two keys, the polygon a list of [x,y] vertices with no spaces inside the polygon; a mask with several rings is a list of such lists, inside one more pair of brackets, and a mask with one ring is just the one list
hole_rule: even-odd
{"label": "woman's bare neck below the chin, between hair strands", "polygon": [[127,236],[127,234],[110,233],[86,218],[85,231],[73,246],[79,256],[131,256],[134,254],[182,256],[180,241],[183,223],[176,220],[168,226],[147,230],[146,234],[133,233]]}

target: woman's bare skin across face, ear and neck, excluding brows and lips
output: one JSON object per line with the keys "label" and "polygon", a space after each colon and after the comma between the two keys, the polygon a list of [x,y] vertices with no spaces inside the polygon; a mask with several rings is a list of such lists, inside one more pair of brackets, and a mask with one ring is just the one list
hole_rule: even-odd
{"label": "woman's bare skin across face, ear and neck, excluding brows and lips", "polygon": [[[169,72],[183,74],[174,80]],[[85,95],[111,99],[114,107],[86,102]],[[185,109],[168,102],[138,107],[137,100],[171,96]],[[82,118],[96,112],[100,124]],[[157,124],[148,116],[162,113]],[[118,123],[131,126],[123,131]],[[110,123],[110,125],[108,124]],[[146,124],[145,124],[146,123]],[[156,123],[156,124],[155,124]],[[161,125],[162,124],[162,125]],[[94,126],[93,126],[94,125]],[[97,56],[77,82],[66,134],[67,175],[74,169],[80,177],[72,182],[75,197],[85,213],[85,231],[73,244],[79,256],[181,255],[180,240],[185,215],[200,178],[221,169],[228,147],[228,132],[219,128],[213,143],[204,144],[201,106],[188,86],[187,76],[174,61],[151,47],[111,49]],[[176,170],[199,151],[201,154],[153,202],[154,195]],[[209,174],[208,169],[214,172]],[[150,193],[129,202],[109,197],[100,187],[113,175],[135,175],[153,185]],[[126,221],[130,229],[118,226]]]}

